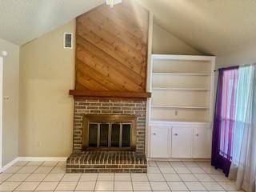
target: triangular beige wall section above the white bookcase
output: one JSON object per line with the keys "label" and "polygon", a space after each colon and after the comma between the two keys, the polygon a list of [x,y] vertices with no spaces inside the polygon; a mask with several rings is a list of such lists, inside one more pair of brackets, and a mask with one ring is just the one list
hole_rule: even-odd
{"label": "triangular beige wall section above the white bookcase", "polygon": [[153,54],[202,54],[161,26],[153,26]]}

